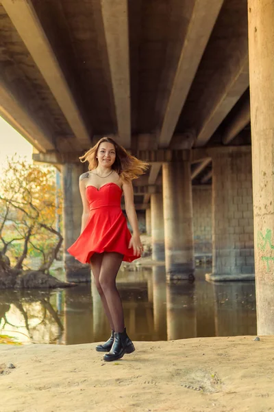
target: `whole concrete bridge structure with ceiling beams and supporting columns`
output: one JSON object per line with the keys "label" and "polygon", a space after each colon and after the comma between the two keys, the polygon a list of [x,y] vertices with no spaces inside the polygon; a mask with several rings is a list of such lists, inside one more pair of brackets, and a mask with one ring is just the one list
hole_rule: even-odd
{"label": "whole concrete bridge structure with ceiling beams and supporting columns", "polygon": [[0,2],[0,115],[62,171],[64,247],[79,234],[78,157],[110,135],[151,163],[136,209],[171,279],[194,271],[192,197],[201,215],[210,187],[208,279],[256,272],[262,332],[274,332],[273,21],[267,0]]}

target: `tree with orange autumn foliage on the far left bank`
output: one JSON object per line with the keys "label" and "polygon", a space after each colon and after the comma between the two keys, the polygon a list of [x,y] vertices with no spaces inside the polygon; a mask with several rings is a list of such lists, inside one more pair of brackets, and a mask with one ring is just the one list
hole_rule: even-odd
{"label": "tree with orange autumn foliage on the far left bank", "polygon": [[29,271],[33,275],[29,255],[34,251],[40,258],[36,272],[49,275],[63,240],[55,227],[62,205],[55,185],[55,172],[52,168],[12,159],[3,175],[0,187],[0,240],[3,245],[0,275],[2,272],[22,276]]}

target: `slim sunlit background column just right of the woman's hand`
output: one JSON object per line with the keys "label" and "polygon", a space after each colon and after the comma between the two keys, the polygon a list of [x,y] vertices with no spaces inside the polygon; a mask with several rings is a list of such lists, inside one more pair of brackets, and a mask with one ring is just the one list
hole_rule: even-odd
{"label": "slim sunlit background column just right of the woman's hand", "polygon": [[164,260],[164,214],[162,193],[153,193],[151,203],[152,259]]}

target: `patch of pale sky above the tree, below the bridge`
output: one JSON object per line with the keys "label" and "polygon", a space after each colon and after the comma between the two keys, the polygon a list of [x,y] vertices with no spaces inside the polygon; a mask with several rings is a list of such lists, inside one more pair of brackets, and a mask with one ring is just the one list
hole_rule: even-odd
{"label": "patch of pale sky above the tree, below the bridge", "polygon": [[0,176],[7,165],[7,157],[17,154],[32,162],[32,145],[0,117]]}

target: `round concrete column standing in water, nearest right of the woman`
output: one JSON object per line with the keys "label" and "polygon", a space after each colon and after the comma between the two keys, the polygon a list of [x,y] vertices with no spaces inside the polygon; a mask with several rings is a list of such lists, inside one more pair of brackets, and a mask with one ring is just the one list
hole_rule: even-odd
{"label": "round concrete column standing in water, nearest right of the woman", "polygon": [[195,269],[190,162],[164,163],[162,176],[166,276],[188,279]]}

